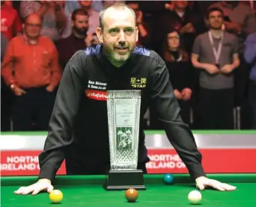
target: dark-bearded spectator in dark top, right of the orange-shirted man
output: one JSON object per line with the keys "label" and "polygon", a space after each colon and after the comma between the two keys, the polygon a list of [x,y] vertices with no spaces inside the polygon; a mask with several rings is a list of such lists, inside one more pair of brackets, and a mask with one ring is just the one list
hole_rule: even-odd
{"label": "dark-bearded spectator in dark top, right of the orange-shirted man", "polygon": [[72,55],[79,49],[85,49],[86,46],[91,46],[94,43],[94,37],[88,36],[89,16],[83,9],[74,10],[71,16],[72,33],[70,37],[61,39],[57,45],[61,67],[67,64]]}

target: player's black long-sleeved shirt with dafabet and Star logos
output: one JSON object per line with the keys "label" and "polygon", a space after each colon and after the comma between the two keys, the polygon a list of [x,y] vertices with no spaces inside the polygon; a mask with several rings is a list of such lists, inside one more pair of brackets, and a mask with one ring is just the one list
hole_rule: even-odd
{"label": "player's black long-sleeved shirt with dafabet and Star logos", "polygon": [[138,162],[147,162],[143,117],[153,105],[165,132],[193,178],[204,176],[201,153],[180,108],[165,62],[156,52],[136,46],[126,64],[114,67],[97,45],[79,50],[64,69],[49,134],[39,156],[40,176],[53,180],[62,161],[76,166],[109,161],[107,90],[141,90]]}

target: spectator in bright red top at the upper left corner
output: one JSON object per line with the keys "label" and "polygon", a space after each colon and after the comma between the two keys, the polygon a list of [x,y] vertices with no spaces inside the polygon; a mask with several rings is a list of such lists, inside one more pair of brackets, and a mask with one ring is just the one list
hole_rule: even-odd
{"label": "spectator in bright red top at the upper left corner", "polygon": [[19,14],[13,9],[11,2],[1,1],[1,33],[8,40],[22,34],[22,22]]}

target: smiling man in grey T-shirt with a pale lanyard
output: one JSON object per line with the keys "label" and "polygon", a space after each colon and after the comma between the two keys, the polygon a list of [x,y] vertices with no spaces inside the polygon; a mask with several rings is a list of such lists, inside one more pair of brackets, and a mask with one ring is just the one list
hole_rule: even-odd
{"label": "smiling man in grey T-shirt with a pale lanyard", "polygon": [[[223,12],[206,14],[210,30],[195,39],[192,64],[200,69],[199,117],[201,129],[234,129],[234,69],[240,65],[238,40],[222,31]],[[200,60],[200,61],[199,61]]]}

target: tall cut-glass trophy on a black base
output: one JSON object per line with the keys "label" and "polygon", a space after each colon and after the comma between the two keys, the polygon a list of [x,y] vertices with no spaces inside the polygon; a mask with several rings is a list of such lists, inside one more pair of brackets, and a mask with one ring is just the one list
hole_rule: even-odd
{"label": "tall cut-glass trophy on a black base", "polygon": [[109,90],[107,95],[110,170],[106,190],[144,190],[138,165],[140,90]]}

